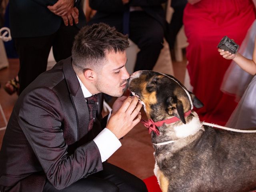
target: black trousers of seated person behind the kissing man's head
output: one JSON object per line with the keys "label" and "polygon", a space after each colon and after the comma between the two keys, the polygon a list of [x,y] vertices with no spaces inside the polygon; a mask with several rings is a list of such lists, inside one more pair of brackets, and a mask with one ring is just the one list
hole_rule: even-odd
{"label": "black trousers of seated person behind the kissing man's head", "polygon": [[[119,32],[123,32],[122,13],[112,13],[106,17],[100,17],[100,14],[96,13],[88,24],[104,22],[114,26]],[[129,38],[140,48],[134,71],[152,70],[163,48],[163,26],[144,11],[130,12]]]}

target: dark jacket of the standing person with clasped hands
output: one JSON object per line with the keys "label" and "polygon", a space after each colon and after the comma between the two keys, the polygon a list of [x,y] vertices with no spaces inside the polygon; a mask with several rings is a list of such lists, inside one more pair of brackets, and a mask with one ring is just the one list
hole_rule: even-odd
{"label": "dark jacket of the standing person with clasped hands", "polygon": [[[52,13],[47,6],[58,0],[10,0],[10,29],[12,37],[39,37],[53,34],[60,28],[62,18]],[[81,0],[75,6],[79,10],[78,28],[85,26],[86,19]]]}

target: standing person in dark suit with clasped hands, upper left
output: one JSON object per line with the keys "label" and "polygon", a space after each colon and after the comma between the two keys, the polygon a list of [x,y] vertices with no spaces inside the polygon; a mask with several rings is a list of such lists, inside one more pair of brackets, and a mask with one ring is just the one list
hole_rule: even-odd
{"label": "standing person in dark suit with clasped hands, upper left", "polygon": [[74,36],[86,19],[81,0],[10,0],[9,8],[21,93],[46,71],[51,47],[57,62],[71,56]]}

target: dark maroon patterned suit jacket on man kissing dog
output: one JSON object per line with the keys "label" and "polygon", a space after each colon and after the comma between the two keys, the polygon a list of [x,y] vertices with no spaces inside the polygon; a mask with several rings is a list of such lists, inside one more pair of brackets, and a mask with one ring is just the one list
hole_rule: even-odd
{"label": "dark maroon patterned suit jacket on man kissing dog", "polygon": [[102,170],[92,139],[106,126],[103,96],[88,132],[88,107],[71,60],[58,62],[19,96],[0,151],[0,186],[40,192],[47,178],[61,189]]}

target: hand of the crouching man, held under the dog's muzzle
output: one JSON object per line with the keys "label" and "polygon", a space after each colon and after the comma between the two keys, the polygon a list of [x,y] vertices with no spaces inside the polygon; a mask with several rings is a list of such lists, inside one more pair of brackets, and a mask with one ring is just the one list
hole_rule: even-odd
{"label": "hand of the crouching man, held under the dog's muzzle", "polygon": [[[125,97],[125,96],[122,96]],[[120,98],[122,98],[120,97]],[[140,122],[141,114],[140,109],[142,104],[139,102],[138,97],[129,96],[124,100],[120,109],[112,114],[108,120],[106,128],[118,138],[125,136],[138,122]]]}

